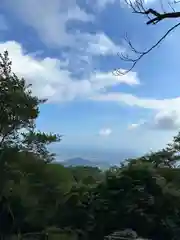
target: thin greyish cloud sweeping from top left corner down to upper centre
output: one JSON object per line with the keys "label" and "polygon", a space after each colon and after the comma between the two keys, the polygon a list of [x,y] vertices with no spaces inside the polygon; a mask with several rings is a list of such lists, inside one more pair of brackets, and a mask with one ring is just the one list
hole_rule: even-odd
{"label": "thin greyish cloud sweeping from top left corner down to upper centre", "polygon": [[[3,3],[3,7],[22,24],[34,29],[47,47],[56,48],[62,53],[67,61],[67,68],[75,75],[89,78],[98,61],[95,56],[125,51],[124,47],[115,44],[103,32],[89,34],[73,28],[67,29],[69,21],[86,22],[95,19],[94,15],[81,9],[76,0],[3,0]],[[33,41],[36,41],[36,36]]]}

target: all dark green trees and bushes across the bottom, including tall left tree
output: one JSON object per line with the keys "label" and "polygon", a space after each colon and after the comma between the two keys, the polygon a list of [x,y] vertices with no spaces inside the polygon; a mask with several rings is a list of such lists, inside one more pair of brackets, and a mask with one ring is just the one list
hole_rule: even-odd
{"label": "all dark green trees and bushes across the bottom, including tall left tree", "polygon": [[105,172],[65,168],[47,148],[61,137],[36,130],[45,100],[30,88],[12,73],[8,53],[1,55],[1,239],[179,239],[180,134],[165,149]]}

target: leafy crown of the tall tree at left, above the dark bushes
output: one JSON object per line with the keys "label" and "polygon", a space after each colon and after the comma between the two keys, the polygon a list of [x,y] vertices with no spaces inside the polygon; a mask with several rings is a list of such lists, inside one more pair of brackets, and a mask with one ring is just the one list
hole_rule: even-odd
{"label": "leafy crown of the tall tree at left, above the dark bushes", "polygon": [[36,131],[39,105],[46,100],[33,96],[31,85],[18,78],[11,65],[6,51],[0,55],[0,159],[4,153],[2,150],[14,148],[32,151],[49,161],[46,144],[60,141],[60,136]]}

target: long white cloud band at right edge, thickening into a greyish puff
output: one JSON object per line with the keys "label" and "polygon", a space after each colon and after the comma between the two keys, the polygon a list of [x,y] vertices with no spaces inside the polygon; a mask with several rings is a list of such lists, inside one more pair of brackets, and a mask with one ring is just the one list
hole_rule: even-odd
{"label": "long white cloud band at right edge, thickening into a greyish puff", "polygon": [[135,129],[142,125],[159,130],[175,130],[180,128],[180,97],[169,99],[139,98],[132,94],[108,93],[93,96],[94,100],[113,101],[127,104],[131,107],[140,107],[154,110],[152,119],[144,122],[133,123],[128,129]]}

